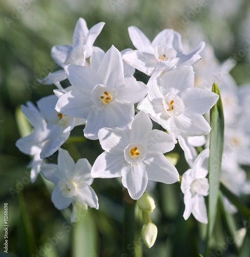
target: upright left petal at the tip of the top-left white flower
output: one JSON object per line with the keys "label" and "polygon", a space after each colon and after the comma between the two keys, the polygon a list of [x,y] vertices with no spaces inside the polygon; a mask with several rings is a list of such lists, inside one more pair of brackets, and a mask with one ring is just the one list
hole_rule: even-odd
{"label": "upright left petal at the tip of the top-left white flower", "polygon": [[87,34],[88,34],[88,27],[87,27],[86,21],[83,18],[80,18],[74,28],[73,46],[86,44]]}

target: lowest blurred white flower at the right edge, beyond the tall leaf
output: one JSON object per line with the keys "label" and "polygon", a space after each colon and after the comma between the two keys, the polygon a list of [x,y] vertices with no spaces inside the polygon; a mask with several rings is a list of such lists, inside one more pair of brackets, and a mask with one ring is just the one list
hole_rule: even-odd
{"label": "lowest blurred white flower at the right edge, beyond the tall leaf", "polygon": [[[249,156],[248,156],[249,158]],[[237,159],[231,156],[229,152],[223,153],[221,163],[221,182],[231,192],[241,196],[243,194],[250,194],[250,181],[247,180],[246,172],[240,168]],[[224,195],[223,204],[228,213],[237,213],[238,209],[233,205]]]}

